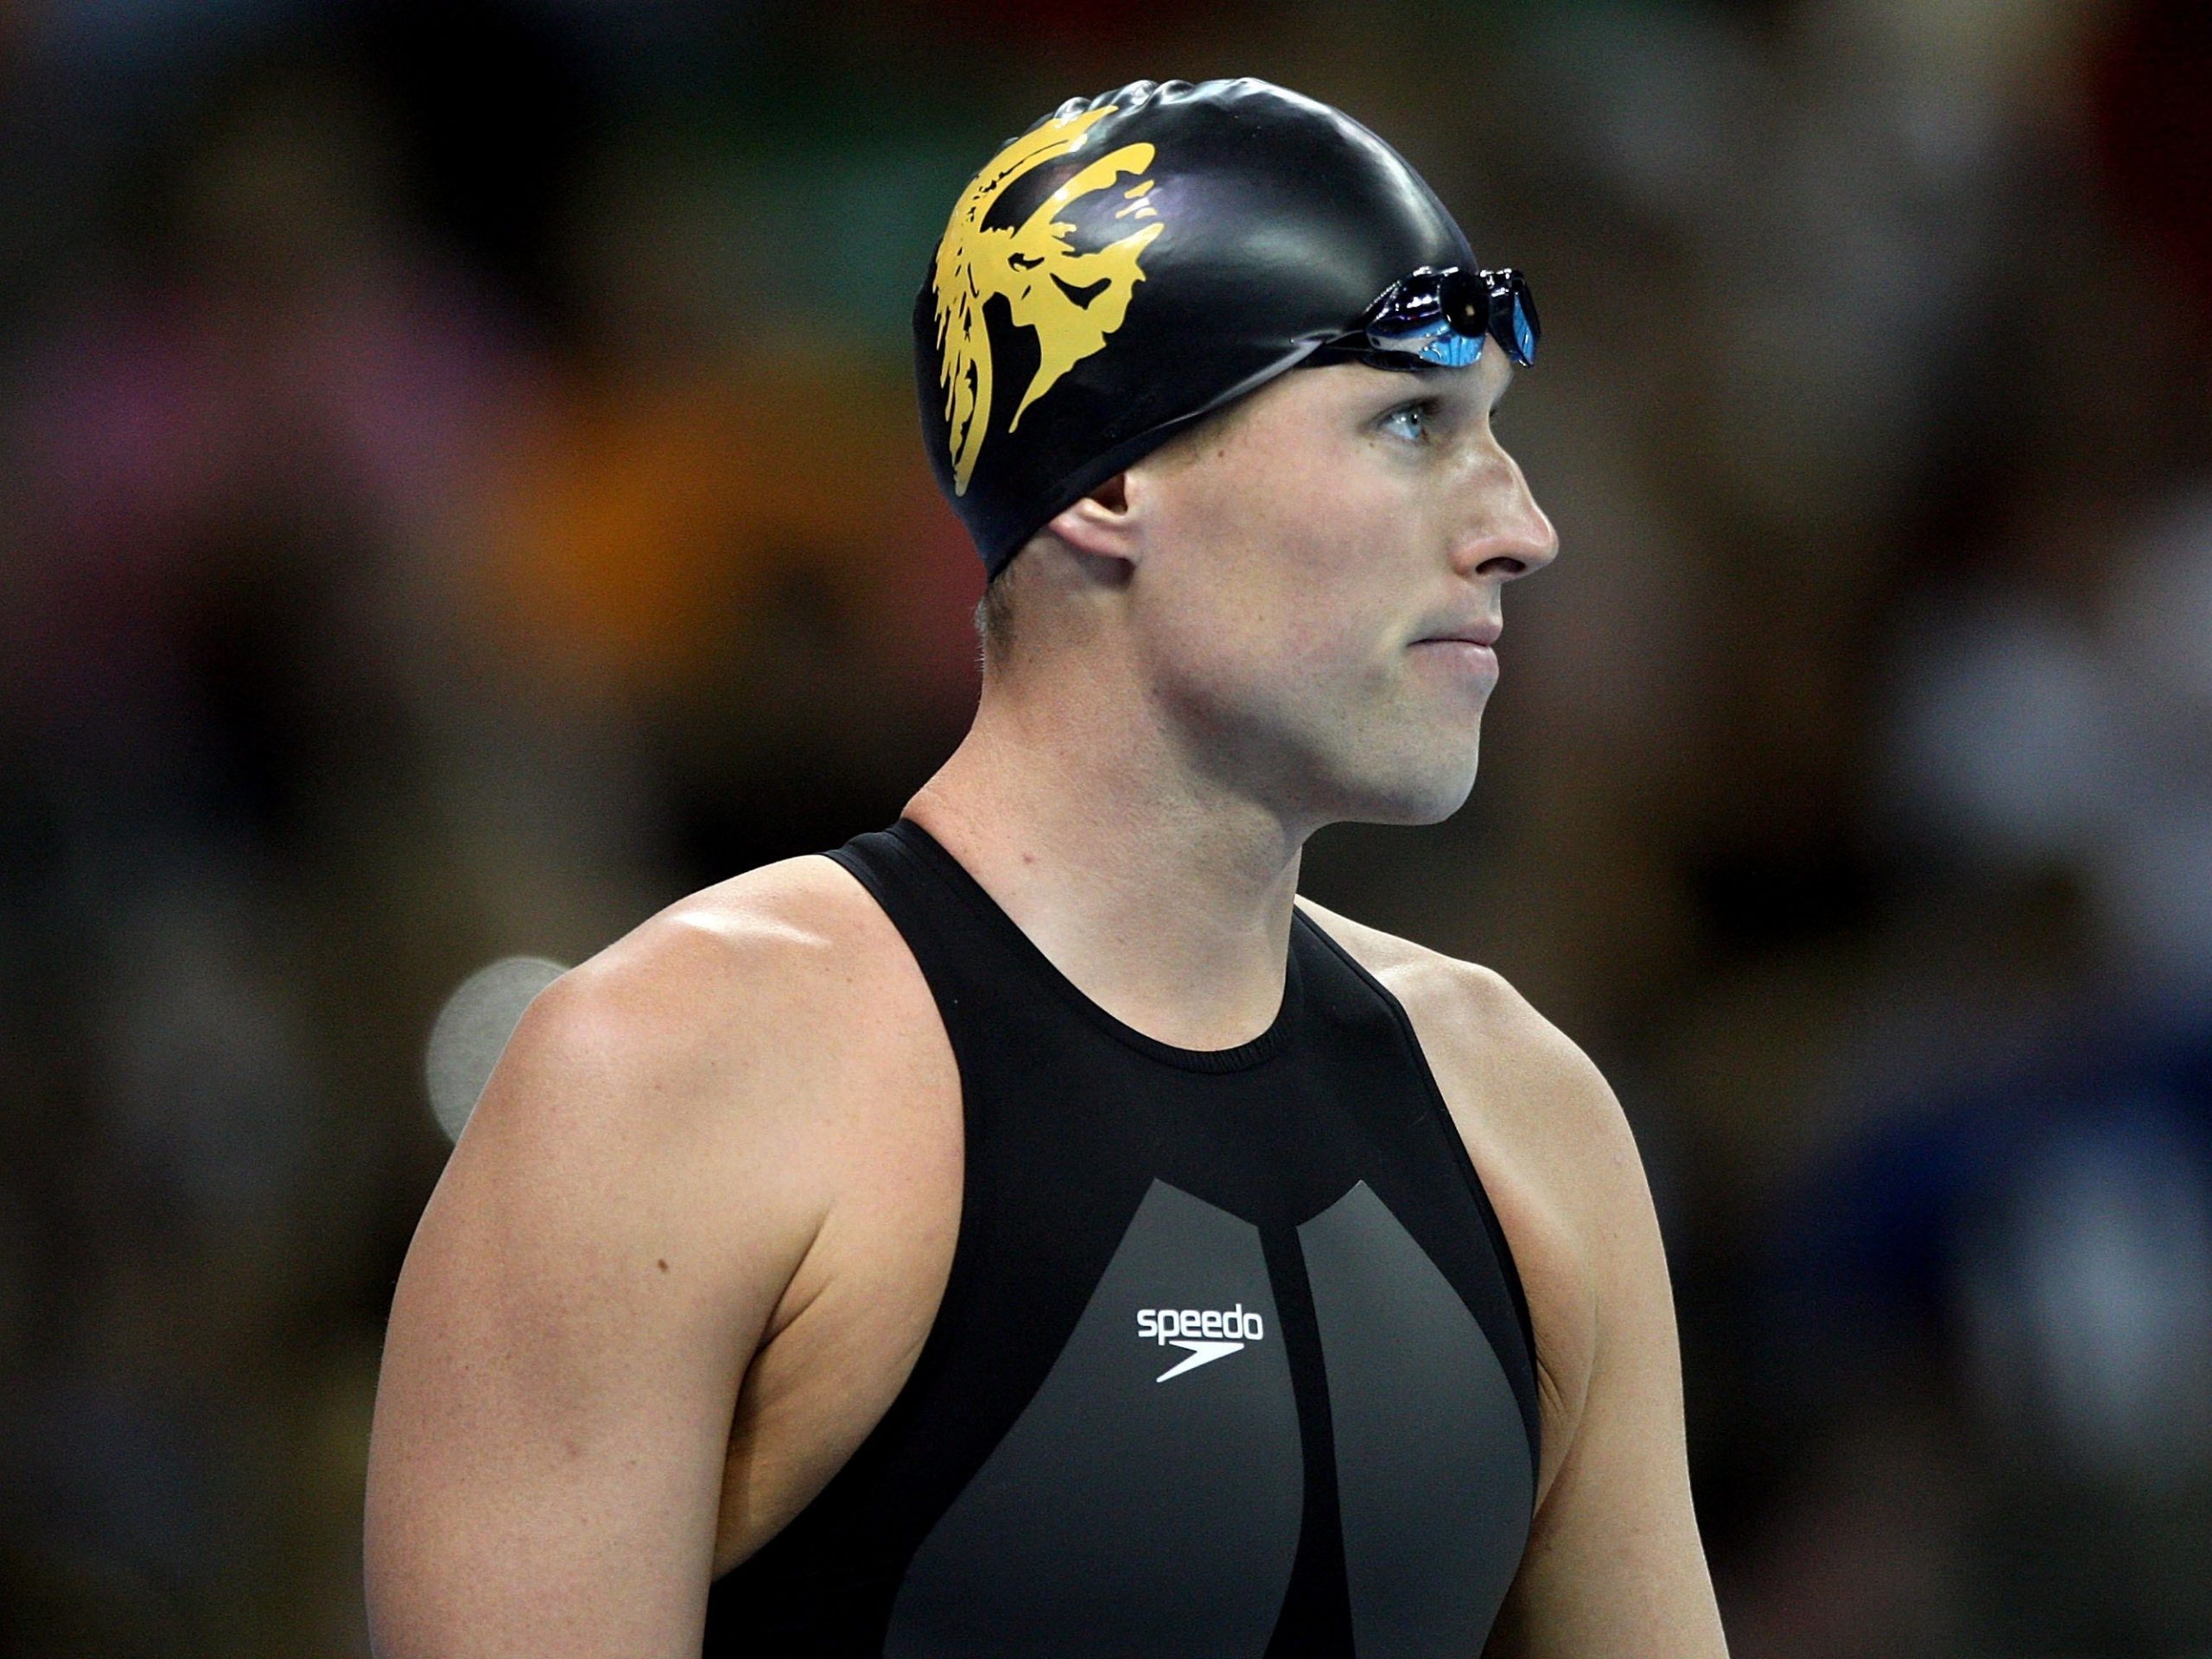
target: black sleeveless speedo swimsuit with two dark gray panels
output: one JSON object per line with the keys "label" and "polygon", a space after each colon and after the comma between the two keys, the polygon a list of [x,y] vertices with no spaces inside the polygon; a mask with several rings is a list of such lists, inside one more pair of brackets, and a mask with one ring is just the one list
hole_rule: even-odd
{"label": "black sleeveless speedo swimsuit with two dark gray panels", "polygon": [[1077,991],[914,823],[832,854],[960,1064],[936,1325],[708,1601],[706,1655],[1473,1659],[1537,1460],[1528,1310],[1398,1002],[1305,916],[1239,1048]]}

